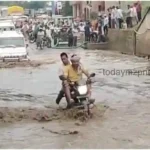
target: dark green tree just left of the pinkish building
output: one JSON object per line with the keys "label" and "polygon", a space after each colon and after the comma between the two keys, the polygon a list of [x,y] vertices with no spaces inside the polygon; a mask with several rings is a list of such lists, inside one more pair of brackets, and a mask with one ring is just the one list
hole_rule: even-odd
{"label": "dark green tree just left of the pinkish building", "polygon": [[73,15],[73,10],[72,6],[70,5],[69,1],[66,1],[63,7],[63,15],[64,16],[72,16]]}

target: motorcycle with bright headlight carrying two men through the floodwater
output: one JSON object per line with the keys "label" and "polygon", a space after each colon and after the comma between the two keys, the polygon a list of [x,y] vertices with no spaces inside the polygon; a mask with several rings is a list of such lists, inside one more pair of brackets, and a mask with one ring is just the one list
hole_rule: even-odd
{"label": "motorcycle with bright headlight carrying two men through the floodwater", "polygon": [[[95,73],[90,74],[90,77],[87,79],[87,81],[81,80],[78,83],[68,81],[70,82],[70,87],[71,87],[70,88],[71,98],[74,100],[76,104],[75,107],[83,108],[88,113],[88,115],[91,114],[90,112],[91,99],[88,96],[87,83],[89,83],[92,77],[95,77]],[[61,76],[60,79],[67,80],[64,76]]]}

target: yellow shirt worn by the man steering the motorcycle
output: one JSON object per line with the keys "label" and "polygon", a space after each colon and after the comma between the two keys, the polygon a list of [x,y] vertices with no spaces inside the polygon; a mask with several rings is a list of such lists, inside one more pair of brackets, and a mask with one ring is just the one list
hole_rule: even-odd
{"label": "yellow shirt worn by the man steering the motorcycle", "polygon": [[83,73],[87,72],[83,66],[79,66],[78,70],[75,70],[72,65],[68,66],[64,70],[64,75],[72,82],[76,82],[82,79]]}

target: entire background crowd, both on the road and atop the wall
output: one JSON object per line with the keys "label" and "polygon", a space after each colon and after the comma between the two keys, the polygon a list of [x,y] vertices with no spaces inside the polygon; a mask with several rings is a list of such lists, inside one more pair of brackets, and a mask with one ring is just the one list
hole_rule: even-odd
{"label": "entire background crowd, both on the road and atop the wall", "polygon": [[61,32],[67,35],[69,47],[77,46],[77,39],[81,35],[85,37],[86,42],[105,42],[109,28],[133,27],[141,20],[141,11],[141,4],[136,2],[128,5],[127,11],[123,11],[119,6],[112,6],[108,8],[108,13],[99,15],[94,23],[92,21],[72,21],[72,23],[61,21],[56,25],[49,19],[47,21],[29,19],[22,24],[21,30],[26,40],[29,38],[29,32],[33,32],[37,47],[43,37],[51,41],[53,33],[60,36]]}

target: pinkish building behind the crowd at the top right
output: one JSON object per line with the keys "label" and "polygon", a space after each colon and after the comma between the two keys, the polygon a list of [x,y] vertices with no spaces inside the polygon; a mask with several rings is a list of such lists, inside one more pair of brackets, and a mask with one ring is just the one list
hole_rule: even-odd
{"label": "pinkish building behind the crowd at the top right", "polygon": [[[70,1],[73,6],[73,17],[82,19],[90,19],[90,13],[107,13],[107,9],[112,6],[120,6],[124,11],[127,5],[133,5],[136,1]],[[142,7],[148,5],[149,2],[141,1]]]}

